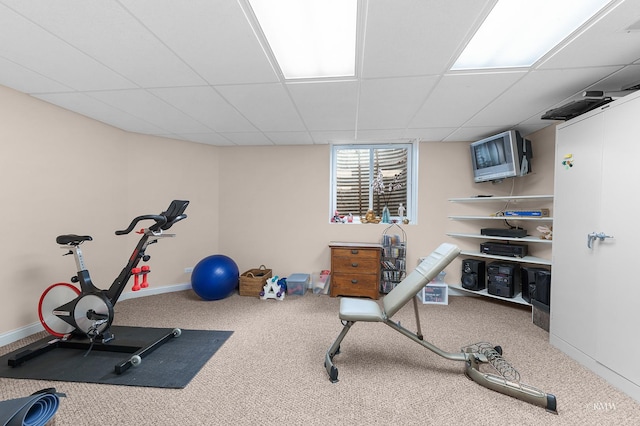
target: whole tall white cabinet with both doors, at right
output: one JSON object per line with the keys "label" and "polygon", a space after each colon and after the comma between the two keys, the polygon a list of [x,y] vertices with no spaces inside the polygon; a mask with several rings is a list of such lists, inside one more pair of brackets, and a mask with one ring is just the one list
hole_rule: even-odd
{"label": "whole tall white cabinet with both doors, at right", "polygon": [[[628,96],[558,126],[550,333],[638,395],[640,93]],[[590,233],[602,238],[588,247]]]}

